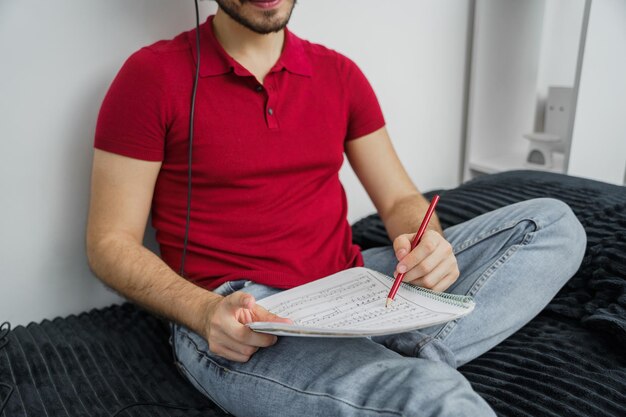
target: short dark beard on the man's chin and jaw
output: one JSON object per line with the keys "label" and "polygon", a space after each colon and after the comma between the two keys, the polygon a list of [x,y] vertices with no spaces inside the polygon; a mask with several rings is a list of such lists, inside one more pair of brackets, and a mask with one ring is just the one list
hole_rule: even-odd
{"label": "short dark beard on the man's chin and jaw", "polygon": [[241,10],[241,7],[249,1],[250,0],[215,0],[220,9],[231,19],[260,35],[267,35],[268,33],[283,30],[287,26],[287,23],[289,23],[291,12],[297,2],[297,0],[283,0],[292,1],[289,12],[284,16],[280,15],[279,10],[265,10],[262,11],[259,16],[258,14],[252,15],[251,13],[248,14]]}

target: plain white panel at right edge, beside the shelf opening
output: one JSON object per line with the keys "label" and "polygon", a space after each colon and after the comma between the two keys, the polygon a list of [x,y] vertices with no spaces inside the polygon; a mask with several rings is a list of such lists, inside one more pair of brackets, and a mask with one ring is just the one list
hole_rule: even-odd
{"label": "plain white panel at right edge, beside the shelf opening", "polygon": [[568,174],[626,185],[626,2],[591,3]]}

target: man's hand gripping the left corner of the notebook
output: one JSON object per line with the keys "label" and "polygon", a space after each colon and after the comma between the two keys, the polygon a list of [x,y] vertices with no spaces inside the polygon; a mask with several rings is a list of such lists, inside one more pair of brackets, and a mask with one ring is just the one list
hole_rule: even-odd
{"label": "man's hand gripping the left corner of the notebook", "polygon": [[292,323],[256,304],[254,297],[241,291],[234,292],[209,306],[205,336],[209,350],[236,362],[247,362],[260,347],[272,346],[278,338],[257,333],[246,323],[276,321]]}

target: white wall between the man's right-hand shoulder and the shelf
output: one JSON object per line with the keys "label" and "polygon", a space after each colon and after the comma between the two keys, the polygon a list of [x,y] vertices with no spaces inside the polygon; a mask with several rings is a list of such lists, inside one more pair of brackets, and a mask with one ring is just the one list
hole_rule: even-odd
{"label": "white wall between the man's right-hand shoulder and the shelf", "polygon": [[[290,25],[361,67],[396,151],[423,191],[458,183],[468,4],[300,0]],[[342,181],[351,221],[374,212],[349,167]]]}

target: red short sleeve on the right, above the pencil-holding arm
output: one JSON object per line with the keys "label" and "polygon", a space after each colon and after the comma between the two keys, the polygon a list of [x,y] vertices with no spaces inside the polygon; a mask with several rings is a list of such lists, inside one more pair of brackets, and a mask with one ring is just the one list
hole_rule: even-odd
{"label": "red short sleeve on the right, above the pencil-holding arm", "polygon": [[347,61],[348,141],[380,129],[385,119],[369,81],[354,62]]}

